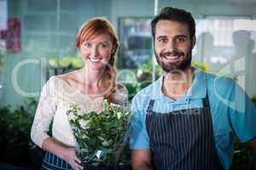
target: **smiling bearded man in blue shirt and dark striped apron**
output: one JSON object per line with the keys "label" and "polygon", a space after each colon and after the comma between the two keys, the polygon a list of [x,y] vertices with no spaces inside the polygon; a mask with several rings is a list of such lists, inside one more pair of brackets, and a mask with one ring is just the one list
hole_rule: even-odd
{"label": "smiling bearded man in blue shirt and dark striped apron", "polygon": [[234,136],[256,149],[255,106],[230,78],[191,66],[189,12],[163,8],[151,26],[164,74],[132,100],[133,169],[229,169]]}

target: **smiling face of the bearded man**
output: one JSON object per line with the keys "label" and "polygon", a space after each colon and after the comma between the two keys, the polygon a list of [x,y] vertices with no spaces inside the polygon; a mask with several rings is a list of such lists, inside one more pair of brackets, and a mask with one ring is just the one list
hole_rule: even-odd
{"label": "smiling face of the bearded man", "polygon": [[186,24],[171,20],[159,20],[155,26],[154,54],[159,65],[166,72],[185,70],[191,64],[192,48]]}

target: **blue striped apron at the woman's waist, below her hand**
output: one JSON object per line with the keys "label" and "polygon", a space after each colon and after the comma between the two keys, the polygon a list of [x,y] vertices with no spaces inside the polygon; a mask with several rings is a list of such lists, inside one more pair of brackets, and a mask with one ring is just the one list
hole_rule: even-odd
{"label": "blue striped apron at the woman's waist, below her hand", "polygon": [[41,170],[71,170],[73,169],[67,164],[67,161],[62,160],[48,151],[45,153],[44,161]]}

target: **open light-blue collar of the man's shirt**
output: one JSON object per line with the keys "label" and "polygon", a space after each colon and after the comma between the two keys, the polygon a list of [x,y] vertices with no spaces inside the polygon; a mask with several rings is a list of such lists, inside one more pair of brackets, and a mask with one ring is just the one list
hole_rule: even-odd
{"label": "open light-blue collar of the man's shirt", "polygon": [[[207,81],[206,73],[200,69],[195,68],[195,78],[192,82],[192,86],[189,88],[188,92],[185,94],[189,99],[203,99],[207,95]],[[152,84],[152,95],[151,99],[163,99],[166,96],[162,92],[164,76],[161,75],[160,78],[153,82]]]}

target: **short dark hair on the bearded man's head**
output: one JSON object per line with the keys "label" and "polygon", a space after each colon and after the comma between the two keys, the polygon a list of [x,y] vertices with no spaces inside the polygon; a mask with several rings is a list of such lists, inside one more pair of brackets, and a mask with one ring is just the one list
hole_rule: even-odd
{"label": "short dark hair on the bearded man's head", "polygon": [[195,37],[195,20],[191,13],[185,11],[182,8],[165,7],[160,10],[160,13],[154,16],[151,21],[152,36],[155,36],[155,26],[159,20],[174,20],[182,22],[189,27],[189,35],[192,39]]}

